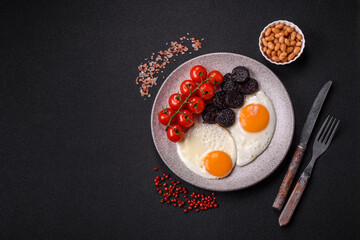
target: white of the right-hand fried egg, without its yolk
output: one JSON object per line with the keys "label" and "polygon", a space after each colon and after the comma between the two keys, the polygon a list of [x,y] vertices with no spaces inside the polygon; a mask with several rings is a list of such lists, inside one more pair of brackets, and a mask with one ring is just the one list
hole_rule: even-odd
{"label": "white of the right-hand fried egg, without its yolk", "polygon": [[[256,133],[245,131],[239,122],[241,110],[248,104],[261,104],[269,112],[270,119],[267,127]],[[235,111],[235,123],[228,128],[234,138],[237,147],[238,166],[245,166],[256,159],[271,142],[276,127],[276,114],[271,100],[263,91],[257,91],[252,95],[245,97],[244,104],[241,108],[233,109]]]}

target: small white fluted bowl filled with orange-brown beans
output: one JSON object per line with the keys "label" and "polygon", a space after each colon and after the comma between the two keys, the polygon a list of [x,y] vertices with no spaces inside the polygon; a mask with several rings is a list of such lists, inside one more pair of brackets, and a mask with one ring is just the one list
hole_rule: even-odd
{"label": "small white fluted bowl filled with orange-brown beans", "polygon": [[305,48],[301,29],[292,22],[278,20],[267,25],[259,37],[261,54],[271,63],[285,65],[298,59]]}

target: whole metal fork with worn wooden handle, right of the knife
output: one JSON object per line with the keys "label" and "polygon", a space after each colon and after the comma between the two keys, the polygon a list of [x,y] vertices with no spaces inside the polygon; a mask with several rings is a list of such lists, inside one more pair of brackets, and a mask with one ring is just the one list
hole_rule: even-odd
{"label": "whole metal fork with worn wooden handle, right of the knife", "polygon": [[305,187],[310,180],[310,176],[314,168],[316,159],[318,159],[321,154],[323,154],[325,150],[329,147],[331,140],[333,139],[336,132],[336,129],[339,126],[339,122],[340,120],[337,120],[335,117],[329,115],[321,126],[314,141],[311,161],[306,166],[304,172],[301,174],[299,181],[296,183],[296,186],[294,187],[294,190],[285,205],[284,210],[281,212],[281,215],[279,217],[280,226],[284,226],[290,222],[295,208],[298,205],[300,198],[304,193]]}

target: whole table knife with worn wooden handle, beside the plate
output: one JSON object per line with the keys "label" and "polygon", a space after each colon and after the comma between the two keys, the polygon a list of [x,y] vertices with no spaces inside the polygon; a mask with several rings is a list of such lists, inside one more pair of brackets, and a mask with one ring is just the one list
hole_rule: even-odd
{"label": "whole table knife with worn wooden handle, beside the plate", "polygon": [[292,181],[294,180],[296,171],[298,170],[301,160],[304,156],[307,142],[309,141],[309,138],[310,138],[311,132],[314,128],[316,119],[319,116],[319,112],[325,101],[326,95],[329,92],[331,84],[332,84],[332,81],[328,81],[321,88],[320,92],[318,93],[318,95],[311,107],[310,113],[306,118],[304,127],[301,132],[300,143],[296,147],[296,150],[293,155],[293,158],[291,159],[289,168],[285,174],[285,177],[281,183],[279,192],[278,192],[276,199],[272,206],[273,208],[275,208],[277,210],[281,210],[281,208],[283,207],[283,205],[285,203],[285,199],[289,192],[289,188],[291,186]]}

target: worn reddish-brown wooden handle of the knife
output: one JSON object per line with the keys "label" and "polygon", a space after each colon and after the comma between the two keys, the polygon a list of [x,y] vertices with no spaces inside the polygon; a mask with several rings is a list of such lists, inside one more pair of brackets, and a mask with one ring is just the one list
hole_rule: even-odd
{"label": "worn reddish-brown wooden handle of the knife", "polygon": [[285,174],[284,180],[281,183],[279,192],[273,203],[273,208],[275,208],[277,210],[281,210],[282,206],[284,205],[287,193],[289,192],[289,188],[291,186],[291,183],[294,180],[295,174],[296,174],[296,172],[299,168],[299,165],[301,163],[301,160],[304,156],[304,151],[305,151],[305,149],[303,147],[297,146],[294,156],[291,159],[289,168]]}

